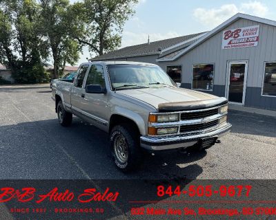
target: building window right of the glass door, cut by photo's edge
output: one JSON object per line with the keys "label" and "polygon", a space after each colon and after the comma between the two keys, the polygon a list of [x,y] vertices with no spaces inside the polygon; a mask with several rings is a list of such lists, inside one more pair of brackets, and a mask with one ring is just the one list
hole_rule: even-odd
{"label": "building window right of the glass door, cut by photo's edge", "polygon": [[276,96],[276,62],[265,63],[263,95]]}

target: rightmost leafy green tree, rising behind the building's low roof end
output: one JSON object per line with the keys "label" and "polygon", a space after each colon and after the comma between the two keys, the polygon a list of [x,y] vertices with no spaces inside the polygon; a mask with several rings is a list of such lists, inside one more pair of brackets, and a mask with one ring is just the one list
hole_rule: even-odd
{"label": "rightmost leafy green tree, rising behind the building's low roof end", "polygon": [[135,12],[138,0],[84,0],[72,6],[75,30],[72,36],[90,52],[98,55],[116,50],[121,45],[124,24]]}

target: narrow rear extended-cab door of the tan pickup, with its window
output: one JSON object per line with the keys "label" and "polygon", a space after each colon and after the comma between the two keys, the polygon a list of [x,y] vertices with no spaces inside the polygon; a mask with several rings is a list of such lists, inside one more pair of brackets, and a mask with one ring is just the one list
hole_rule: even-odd
{"label": "narrow rear extended-cab door of the tan pickup, with its window", "polygon": [[89,65],[85,64],[79,67],[77,72],[77,78],[74,81],[74,85],[72,86],[71,91],[71,105],[72,112],[75,115],[81,117],[81,107],[83,106],[83,97],[85,96],[85,89],[83,85],[84,78],[86,76],[86,72],[88,70]]}

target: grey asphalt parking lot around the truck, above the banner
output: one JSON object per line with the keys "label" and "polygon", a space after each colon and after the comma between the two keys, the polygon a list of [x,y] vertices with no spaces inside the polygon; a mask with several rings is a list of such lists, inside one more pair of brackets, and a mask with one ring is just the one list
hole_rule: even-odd
{"label": "grey asphalt parking lot around the truck, above the banner", "polygon": [[48,85],[0,87],[0,179],[276,179],[276,118],[230,111],[221,144],[148,155],[126,175],[112,164],[108,135],[78,118],[60,126],[50,97]]}

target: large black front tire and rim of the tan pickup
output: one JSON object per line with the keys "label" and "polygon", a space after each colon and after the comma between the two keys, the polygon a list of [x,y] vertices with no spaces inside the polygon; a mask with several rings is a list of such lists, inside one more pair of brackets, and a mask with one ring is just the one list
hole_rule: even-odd
{"label": "large black front tire and rim of the tan pickup", "polygon": [[139,134],[128,124],[117,125],[112,129],[110,150],[115,165],[123,172],[138,168],[142,162]]}

